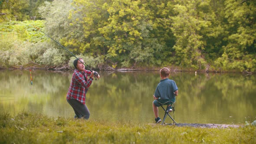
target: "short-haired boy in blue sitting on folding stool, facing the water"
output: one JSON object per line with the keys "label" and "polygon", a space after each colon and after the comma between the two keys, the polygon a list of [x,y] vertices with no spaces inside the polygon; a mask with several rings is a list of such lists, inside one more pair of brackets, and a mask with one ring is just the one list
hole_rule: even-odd
{"label": "short-haired boy in blue sitting on folding stool, facing the water", "polygon": [[[160,69],[161,80],[153,95],[154,97],[153,111],[155,115],[156,124],[162,121],[158,115],[158,107],[160,107],[167,101],[172,101],[171,104],[174,103],[176,99],[175,96],[178,95],[178,87],[173,80],[168,79],[169,76],[170,76],[169,68],[164,67]],[[172,110],[170,109],[170,111]]]}

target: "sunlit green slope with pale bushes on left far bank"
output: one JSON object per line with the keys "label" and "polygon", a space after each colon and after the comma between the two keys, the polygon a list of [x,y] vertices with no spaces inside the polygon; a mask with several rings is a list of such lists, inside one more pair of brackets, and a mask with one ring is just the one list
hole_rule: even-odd
{"label": "sunlit green slope with pale bushes on left far bank", "polygon": [[33,26],[42,28],[43,21],[2,23],[0,39],[2,67],[26,65],[31,61],[43,65],[61,65],[65,62],[66,53],[62,52],[62,49],[56,49],[54,43],[49,43],[49,39],[43,33],[36,31]]}

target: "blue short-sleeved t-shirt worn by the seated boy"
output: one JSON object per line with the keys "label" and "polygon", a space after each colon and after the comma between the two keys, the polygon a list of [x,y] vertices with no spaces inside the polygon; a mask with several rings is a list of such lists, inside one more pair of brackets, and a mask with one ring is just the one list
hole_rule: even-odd
{"label": "blue short-sleeved t-shirt worn by the seated boy", "polygon": [[162,79],[154,92],[154,96],[156,98],[169,99],[171,101],[175,101],[174,92],[177,90],[178,87],[174,80],[168,78]]}

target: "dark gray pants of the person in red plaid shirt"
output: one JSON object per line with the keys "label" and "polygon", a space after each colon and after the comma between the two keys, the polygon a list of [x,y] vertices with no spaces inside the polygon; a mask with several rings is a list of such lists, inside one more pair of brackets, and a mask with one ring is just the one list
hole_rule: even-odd
{"label": "dark gray pants of the person in red plaid shirt", "polygon": [[75,111],[75,118],[88,119],[90,117],[90,111],[86,105],[83,105],[76,99],[67,99],[67,101]]}

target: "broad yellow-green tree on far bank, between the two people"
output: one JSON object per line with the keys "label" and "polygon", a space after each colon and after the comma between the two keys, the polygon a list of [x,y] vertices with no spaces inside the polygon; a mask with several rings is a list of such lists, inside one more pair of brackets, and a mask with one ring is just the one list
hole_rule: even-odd
{"label": "broad yellow-green tree on far bank, between the two people", "polygon": [[79,23],[85,32],[84,51],[93,49],[94,55],[105,55],[106,61],[120,66],[161,63],[156,58],[161,55],[165,39],[159,41],[160,22],[147,9],[152,5],[140,0],[75,0],[74,4],[74,13],[82,15]]}

